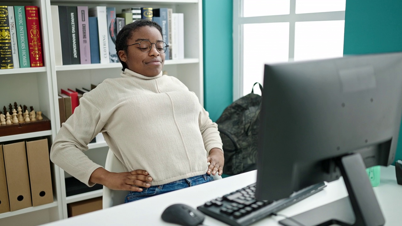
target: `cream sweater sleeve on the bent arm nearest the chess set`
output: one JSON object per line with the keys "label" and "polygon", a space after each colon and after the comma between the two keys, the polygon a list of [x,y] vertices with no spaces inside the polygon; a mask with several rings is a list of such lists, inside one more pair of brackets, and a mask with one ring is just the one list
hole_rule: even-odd
{"label": "cream sweater sleeve on the bent arm nearest the chess set", "polygon": [[103,167],[86,156],[89,142],[102,130],[105,123],[100,111],[85,97],[57,133],[50,150],[50,159],[67,173],[92,187],[89,177],[94,170]]}

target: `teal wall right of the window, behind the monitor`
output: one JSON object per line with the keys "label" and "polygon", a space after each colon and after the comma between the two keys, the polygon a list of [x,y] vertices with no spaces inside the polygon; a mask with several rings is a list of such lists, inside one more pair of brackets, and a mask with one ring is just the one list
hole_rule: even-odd
{"label": "teal wall right of the window, behind the monitor", "polygon": [[[402,51],[401,0],[347,0],[343,53]],[[402,132],[396,159],[402,159]]]}

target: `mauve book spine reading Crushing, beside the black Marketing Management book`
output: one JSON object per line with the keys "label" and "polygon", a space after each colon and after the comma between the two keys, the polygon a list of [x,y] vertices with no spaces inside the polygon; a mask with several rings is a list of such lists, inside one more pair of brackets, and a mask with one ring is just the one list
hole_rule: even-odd
{"label": "mauve book spine reading Crushing, beside the black Marketing Management book", "polygon": [[77,13],[81,64],[90,64],[91,49],[89,40],[88,6],[77,6]]}

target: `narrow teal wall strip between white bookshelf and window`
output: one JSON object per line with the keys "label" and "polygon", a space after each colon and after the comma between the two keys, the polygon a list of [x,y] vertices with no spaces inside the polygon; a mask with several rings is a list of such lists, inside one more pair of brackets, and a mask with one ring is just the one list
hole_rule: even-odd
{"label": "narrow teal wall strip between white bookshelf and window", "polygon": [[212,121],[233,101],[232,33],[232,0],[204,0],[204,107]]}

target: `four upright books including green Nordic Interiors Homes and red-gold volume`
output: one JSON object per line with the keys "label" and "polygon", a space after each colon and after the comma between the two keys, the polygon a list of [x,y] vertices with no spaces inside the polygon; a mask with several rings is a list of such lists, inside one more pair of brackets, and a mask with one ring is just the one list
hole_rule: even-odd
{"label": "four upright books including green Nordic Interiors Homes and red-gold volume", "polygon": [[0,6],[0,69],[42,67],[37,6]]}

